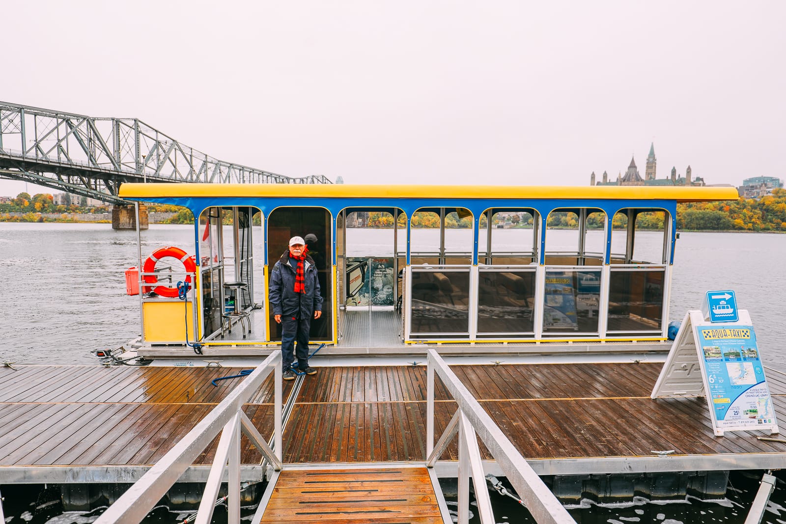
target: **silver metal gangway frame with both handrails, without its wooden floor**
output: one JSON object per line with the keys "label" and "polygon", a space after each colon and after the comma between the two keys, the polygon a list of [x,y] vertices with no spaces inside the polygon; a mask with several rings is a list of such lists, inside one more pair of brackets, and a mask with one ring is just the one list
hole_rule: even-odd
{"label": "silver metal gangway frame with both handrails, without its wooden floor", "polygon": [[[265,441],[257,428],[254,427],[242,408],[264,380],[274,373],[274,435],[272,446]],[[435,376],[442,379],[446,389],[454,396],[457,411],[448,423],[439,441],[434,443],[434,397]],[[469,519],[469,478],[475,486],[476,504],[480,521],[483,524],[494,524],[494,514],[488,494],[486,475],[483,471],[481,454],[477,437],[487,446],[498,467],[505,473],[513,489],[516,490],[523,505],[531,512],[538,523],[567,524],[575,522],[560,504],[544,482],[527,464],[527,461],[516,450],[505,434],[491,420],[487,412],[472,397],[461,380],[450,370],[446,362],[432,348],[428,348],[428,391],[427,391],[427,455],[425,462],[413,463],[429,468],[435,467],[446,446],[458,436],[458,522],[466,524]],[[293,394],[294,396],[294,394]],[[211,522],[213,510],[219,494],[219,488],[227,477],[227,515],[228,522],[241,522],[241,433],[248,436],[253,445],[264,456],[264,462],[273,473],[270,483],[256,510],[252,524],[263,519],[266,502],[270,500],[270,492],[282,470],[288,465],[282,464],[282,378],[281,352],[270,354],[254,372],[250,373],[223,401],[219,403],[203,420],[185,435],[180,442],[153,465],[138,482],[131,486],[114,504],[112,504],[95,522],[141,522],[154,508],[167,490],[178,481],[178,478],[193,464],[211,444],[219,433],[218,449],[215,460],[208,474],[204,493],[196,514],[197,524]],[[312,464],[309,464],[311,466]],[[384,466],[385,463],[375,465]],[[325,467],[326,464],[313,464],[314,469]],[[343,464],[342,467],[347,467]],[[299,468],[303,471],[302,467]],[[227,471],[228,470],[228,471]],[[362,471],[358,469],[358,471]],[[439,486],[439,484],[437,484]],[[451,522],[450,515],[443,512],[443,521]],[[365,518],[365,522],[373,522],[373,518]]]}

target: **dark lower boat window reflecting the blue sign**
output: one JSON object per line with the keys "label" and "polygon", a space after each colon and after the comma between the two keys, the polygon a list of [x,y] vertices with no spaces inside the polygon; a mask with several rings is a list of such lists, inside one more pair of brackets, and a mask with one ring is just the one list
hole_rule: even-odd
{"label": "dark lower boat window reflecting the blue sign", "polygon": [[546,269],[543,335],[597,333],[601,269]]}

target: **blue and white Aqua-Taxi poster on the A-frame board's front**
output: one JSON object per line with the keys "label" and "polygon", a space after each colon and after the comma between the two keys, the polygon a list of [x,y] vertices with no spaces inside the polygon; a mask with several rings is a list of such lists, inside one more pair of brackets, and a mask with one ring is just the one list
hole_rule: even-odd
{"label": "blue and white Aqua-Taxi poster on the A-frame board's front", "polygon": [[752,430],[776,424],[753,326],[697,326],[696,334],[716,427]]}

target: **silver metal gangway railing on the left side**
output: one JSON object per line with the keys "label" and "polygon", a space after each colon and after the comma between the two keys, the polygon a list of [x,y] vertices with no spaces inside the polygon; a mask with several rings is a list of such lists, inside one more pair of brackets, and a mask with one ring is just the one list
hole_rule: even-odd
{"label": "silver metal gangway railing on the left side", "polygon": [[[271,372],[274,373],[273,449],[270,449],[243,412],[243,405],[259,390]],[[259,449],[275,471],[281,471],[281,398],[281,352],[274,351],[212,409],[208,416],[197,423],[193,430],[109,506],[95,521],[96,524],[141,522],[219,433],[221,438],[204,487],[196,524],[211,522],[215,500],[225,475],[228,475],[227,522],[241,522],[241,433]]]}

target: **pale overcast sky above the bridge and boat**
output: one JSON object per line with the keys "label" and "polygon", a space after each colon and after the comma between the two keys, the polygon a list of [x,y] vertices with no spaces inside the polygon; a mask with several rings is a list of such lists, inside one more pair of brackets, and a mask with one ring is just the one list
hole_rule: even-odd
{"label": "pale overcast sky above the bridge and boat", "polygon": [[631,155],[644,176],[654,142],[658,178],[786,178],[780,0],[3,2],[2,19],[0,101],[136,117],[278,174],[587,185]]}

